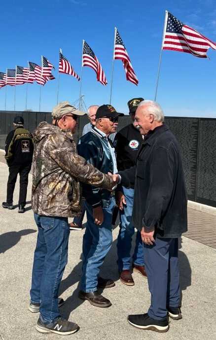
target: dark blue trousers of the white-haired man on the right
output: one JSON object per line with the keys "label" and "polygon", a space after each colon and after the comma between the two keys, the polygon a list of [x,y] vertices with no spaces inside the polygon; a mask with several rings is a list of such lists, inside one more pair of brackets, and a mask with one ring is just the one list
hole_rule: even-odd
{"label": "dark blue trousers of the white-haired man on the right", "polygon": [[167,306],[180,304],[178,238],[156,238],[153,246],[144,244],[144,258],[151,293],[148,315],[161,320],[167,315]]}

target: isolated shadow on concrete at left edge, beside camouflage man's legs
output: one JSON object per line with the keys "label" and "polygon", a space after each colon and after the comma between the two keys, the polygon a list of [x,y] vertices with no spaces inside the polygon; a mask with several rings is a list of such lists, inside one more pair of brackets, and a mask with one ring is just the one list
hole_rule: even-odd
{"label": "isolated shadow on concrete at left edge, beside camouflage man's legs", "polygon": [[0,254],[15,246],[22,236],[36,233],[34,229],[23,229],[20,231],[9,231],[0,235]]}

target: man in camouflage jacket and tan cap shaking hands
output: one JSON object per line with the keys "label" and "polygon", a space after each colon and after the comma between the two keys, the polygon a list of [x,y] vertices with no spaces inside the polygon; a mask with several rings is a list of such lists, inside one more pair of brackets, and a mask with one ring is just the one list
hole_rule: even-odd
{"label": "man in camouflage jacket and tan cap shaking hands", "polygon": [[83,114],[62,102],[53,109],[54,125],[42,122],[35,132],[32,208],[38,236],[29,309],[40,311],[36,330],[41,333],[68,335],[78,329],[60,316],[64,301],[58,290],[68,257],[68,217],[81,211],[79,181],[108,190],[115,185],[112,177],[76,154],[72,132]]}

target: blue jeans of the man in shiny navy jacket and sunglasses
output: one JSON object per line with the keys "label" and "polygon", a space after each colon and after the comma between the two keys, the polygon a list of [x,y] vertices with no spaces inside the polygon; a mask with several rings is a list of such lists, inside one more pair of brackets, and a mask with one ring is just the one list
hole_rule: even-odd
{"label": "blue jeans of the man in shiny navy jacket and sunglasses", "polygon": [[97,291],[98,275],[105,256],[112,245],[112,212],[114,198],[110,198],[108,207],[103,208],[104,222],[94,223],[91,205],[85,202],[87,223],[82,244],[82,277],[81,290],[86,293]]}

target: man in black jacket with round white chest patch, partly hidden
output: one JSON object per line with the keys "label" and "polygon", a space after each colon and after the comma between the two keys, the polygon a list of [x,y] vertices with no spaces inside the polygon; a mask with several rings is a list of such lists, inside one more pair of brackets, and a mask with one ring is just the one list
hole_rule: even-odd
{"label": "man in black jacket with round white chest patch, partly hidden", "polygon": [[[123,127],[115,136],[114,145],[116,150],[117,169],[125,170],[136,165],[139,147],[143,142],[143,137],[134,126],[136,109],[143,98],[133,98],[129,100],[129,114],[132,123]],[[134,187],[125,188],[119,186],[116,194],[116,203],[120,209],[119,235],[117,240],[118,269],[120,280],[128,286],[134,285],[131,275],[131,241],[135,228],[132,222],[132,210],[134,202]],[[137,231],[136,246],[133,255],[134,271],[146,276],[144,269],[143,242],[141,234]]]}

